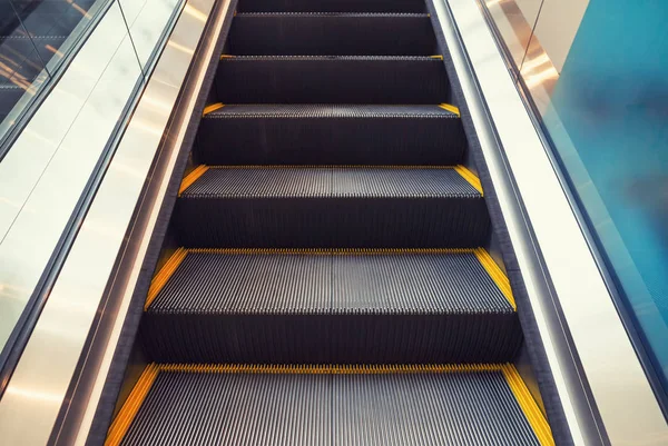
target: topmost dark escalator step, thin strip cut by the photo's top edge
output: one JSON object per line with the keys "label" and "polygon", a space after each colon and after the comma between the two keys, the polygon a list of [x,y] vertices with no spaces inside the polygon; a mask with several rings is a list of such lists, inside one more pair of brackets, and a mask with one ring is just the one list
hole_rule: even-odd
{"label": "topmost dark escalator step, thin strip cut by the photo's top edge", "polygon": [[239,12],[424,12],[423,0],[243,0]]}

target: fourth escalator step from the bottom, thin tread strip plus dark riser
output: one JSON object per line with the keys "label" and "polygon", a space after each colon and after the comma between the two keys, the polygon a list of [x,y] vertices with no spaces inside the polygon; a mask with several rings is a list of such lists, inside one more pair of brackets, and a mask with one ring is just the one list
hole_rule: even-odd
{"label": "fourth escalator step from the bottom, thin tread strip plus dark riser", "polygon": [[204,117],[208,165],[422,165],[464,159],[459,116],[439,106],[226,105]]}

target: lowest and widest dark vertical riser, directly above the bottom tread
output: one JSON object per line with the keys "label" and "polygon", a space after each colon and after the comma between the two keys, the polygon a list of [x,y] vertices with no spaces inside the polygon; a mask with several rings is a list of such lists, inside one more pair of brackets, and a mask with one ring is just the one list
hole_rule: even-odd
{"label": "lowest and widest dark vertical riser, directly above the bottom tread", "polygon": [[[271,298],[271,296],[266,296]],[[159,363],[434,364],[510,361],[517,314],[147,313],[143,341]]]}

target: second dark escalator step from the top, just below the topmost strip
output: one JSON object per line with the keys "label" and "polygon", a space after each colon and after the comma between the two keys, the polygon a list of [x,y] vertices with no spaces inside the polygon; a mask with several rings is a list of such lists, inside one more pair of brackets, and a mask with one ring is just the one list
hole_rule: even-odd
{"label": "second dark escalator step from the top, just below the topmost strip", "polygon": [[426,13],[248,12],[235,16],[230,54],[431,56]]}

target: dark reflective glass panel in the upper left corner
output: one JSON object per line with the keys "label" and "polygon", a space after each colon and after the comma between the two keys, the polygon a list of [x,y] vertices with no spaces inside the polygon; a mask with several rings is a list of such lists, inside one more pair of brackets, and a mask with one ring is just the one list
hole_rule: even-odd
{"label": "dark reflective glass panel in the upper left corner", "polygon": [[51,79],[108,1],[0,0],[1,133]]}

